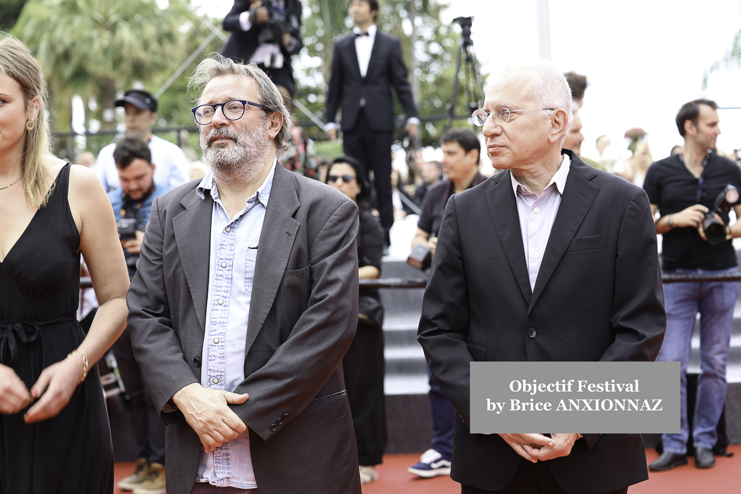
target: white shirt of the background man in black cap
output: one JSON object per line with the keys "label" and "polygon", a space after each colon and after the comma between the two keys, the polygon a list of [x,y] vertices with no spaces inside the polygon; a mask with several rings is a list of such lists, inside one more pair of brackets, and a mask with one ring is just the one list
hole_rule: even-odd
{"label": "white shirt of the background man in black cap", "polygon": [[[114,150],[116,150],[116,143],[108,144],[100,150],[96,161],[96,173],[106,192],[121,187],[119,170],[116,168],[116,161],[113,161]],[[149,141],[149,150],[152,152],[152,163],[155,165],[155,183],[177,187],[190,181],[190,167],[187,164],[185,153],[176,144],[152,136]]]}

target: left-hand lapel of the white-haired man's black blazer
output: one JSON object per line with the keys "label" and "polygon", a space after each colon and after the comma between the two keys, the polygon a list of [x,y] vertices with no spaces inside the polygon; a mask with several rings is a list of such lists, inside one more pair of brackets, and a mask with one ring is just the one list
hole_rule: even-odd
{"label": "left-hand lapel of the white-haired man's black blazer", "polygon": [[[525,247],[522,247],[522,231],[519,228],[519,214],[517,203],[512,191],[510,171],[494,176],[491,187],[486,191],[491,218],[494,219],[496,234],[502,242],[502,248],[509,261],[512,272],[519,284],[522,295],[530,303],[532,291],[528,264],[525,261]],[[501,176],[499,180],[496,177]],[[542,268],[541,268],[542,269]]]}

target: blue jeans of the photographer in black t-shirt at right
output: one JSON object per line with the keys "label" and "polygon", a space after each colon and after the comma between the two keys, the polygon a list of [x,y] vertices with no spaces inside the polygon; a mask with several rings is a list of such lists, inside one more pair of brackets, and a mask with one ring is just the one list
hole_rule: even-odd
{"label": "blue jeans of the photographer in black t-shirt at right", "polygon": [[[729,273],[728,270],[676,270],[669,273]],[[677,362],[681,368],[681,430],[662,435],[664,451],[687,453],[687,366],[690,362],[692,331],[700,312],[700,361],[692,437],[695,447],[712,450],[718,441],[716,427],[725,404],[725,366],[734,328],[734,307],[739,296],[736,281],[681,282],[664,284],[666,333],[657,361]]]}

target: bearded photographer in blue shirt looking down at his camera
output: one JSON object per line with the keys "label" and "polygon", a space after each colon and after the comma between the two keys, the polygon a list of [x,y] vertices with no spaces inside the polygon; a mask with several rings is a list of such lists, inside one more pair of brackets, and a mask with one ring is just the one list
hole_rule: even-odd
{"label": "bearded photographer in blue shirt looking down at his camera", "polygon": [[[108,198],[116,215],[129,276],[133,277],[152,203],[170,187],[154,181],[156,165],[152,162],[152,153],[147,143],[139,138],[131,136],[119,141],[113,159],[119,171],[121,188],[111,190]],[[136,433],[139,458],[136,471],[119,481],[119,489],[133,490],[135,494],[165,493],[165,424],[160,421],[159,411],[144,387],[128,328],[113,344],[113,354],[130,398],[131,423]]]}

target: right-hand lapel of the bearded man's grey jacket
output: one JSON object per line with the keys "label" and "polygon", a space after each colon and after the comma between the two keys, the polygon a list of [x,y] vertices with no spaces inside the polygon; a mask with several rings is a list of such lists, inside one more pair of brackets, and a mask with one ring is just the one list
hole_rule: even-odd
{"label": "right-hand lapel of the bearded man's grey jacket", "polygon": [[299,230],[299,222],[293,219],[293,213],[296,213],[300,205],[296,188],[293,187],[292,172],[277,164],[255,261],[245,355],[250,352],[257,333],[273,307],[296,232]]}

